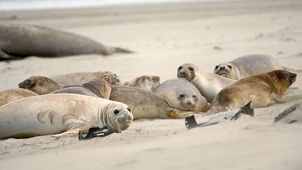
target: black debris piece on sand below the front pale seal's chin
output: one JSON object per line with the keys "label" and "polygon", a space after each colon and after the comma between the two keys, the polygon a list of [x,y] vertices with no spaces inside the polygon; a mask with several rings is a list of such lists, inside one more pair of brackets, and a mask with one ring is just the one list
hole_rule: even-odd
{"label": "black debris piece on sand below the front pale seal's chin", "polygon": [[79,131],[79,140],[86,140],[94,137],[104,137],[112,133],[122,133],[120,125],[117,125],[117,131],[109,131],[107,126],[103,128],[99,128],[99,127],[90,128],[85,137],[83,137],[82,131]]}

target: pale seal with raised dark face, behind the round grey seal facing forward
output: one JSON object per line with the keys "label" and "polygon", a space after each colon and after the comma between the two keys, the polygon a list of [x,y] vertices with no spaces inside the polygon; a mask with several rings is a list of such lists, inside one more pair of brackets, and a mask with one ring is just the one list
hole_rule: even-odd
{"label": "pale seal with raised dark face, behind the round grey seal facing forward", "polygon": [[199,90],[201,95],[210,103],[214,100],[217,93],[236,82],[226,77],[207,73],[199,69],[196,65],[186,63],[178,67],[177,77],[190,81]]}

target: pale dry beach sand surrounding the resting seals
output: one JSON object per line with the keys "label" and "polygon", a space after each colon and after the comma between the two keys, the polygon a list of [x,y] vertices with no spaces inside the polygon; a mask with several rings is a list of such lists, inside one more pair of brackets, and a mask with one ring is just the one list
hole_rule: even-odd
{"label": "pale dry beach sand surrounding the resting seals", "polygon": [[[218,63],[253,53],[302,69],[301,18],[302,1],[0,12],[0,23],[49,26],[136,52],[0,62],[0,91],[33,74],[77,71],[111,70],[122,80],[156,75],[163,82],[183,63],[212,73]],[[75,135],[0,140],[0,169],[301,169],[302,125],[273,124],[302,101],[297,73],[284,96],[291,100],[255,109],[254,117],[191,130],[184,120],[139,119],[122,134],[85,141]],[[198,123],[207,119],[197,116]]]}

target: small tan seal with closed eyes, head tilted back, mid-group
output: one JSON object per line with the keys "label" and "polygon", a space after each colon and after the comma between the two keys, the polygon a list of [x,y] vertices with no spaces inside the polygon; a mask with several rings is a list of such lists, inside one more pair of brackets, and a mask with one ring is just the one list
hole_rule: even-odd
{"label": "small tan seal with closed eyes, head tilted back, mid-group", "polygon": [[150,75],[139,76],[129,81],[121,82],[120,85],[137,87],[153,92],[160,85],[160,77]]}

